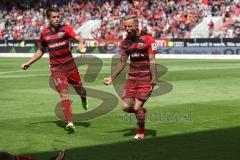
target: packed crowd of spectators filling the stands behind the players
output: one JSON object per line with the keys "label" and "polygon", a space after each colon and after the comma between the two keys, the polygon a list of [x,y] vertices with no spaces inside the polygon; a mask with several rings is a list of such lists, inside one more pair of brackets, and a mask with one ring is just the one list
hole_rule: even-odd
{"label": "packed crowd of spectators filling the stands behind the players", "polygon": [[[206,16],[223,16],[223,37],[239,34],[239,0],[3,0],[0,4],[0,39],[36,39],[46,25],[45,11],[58,7],[66,24],[80,27],[87,20],[101,19],[101,27],[89,39],[121,39],[125,36],[121,19],[139,17],[140,27],[155,38],[188,38],[192,28]],[[7,6],[7,7],[6,7]],[[230,19],[230,20],[229,20]],[[229,31],[231,29],[231,32]],[[231,34],[228,34],[231,33]],[[219,36],[211,35],[211,36]]]}

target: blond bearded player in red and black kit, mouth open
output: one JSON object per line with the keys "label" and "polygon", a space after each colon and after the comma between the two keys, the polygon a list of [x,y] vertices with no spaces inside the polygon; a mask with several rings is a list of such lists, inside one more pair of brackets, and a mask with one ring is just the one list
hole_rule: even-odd
{"label": "blond bearded player in red and black kit, mouth open", "polygon": [[153,37],[139,29],[137,17],[127,16],[124,23],[128,35],[121,44],[120,60],[111,76],[104,78],[103,82],[109,85],[124,69],[130,57],[130,72],[122,95],[122,110],[135,113],[138,129],[134,138],[141,139],[145,136],[146,108],[143,105],[156,84],[157,47]]}

